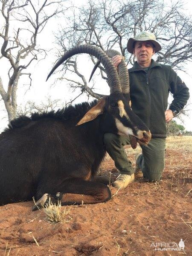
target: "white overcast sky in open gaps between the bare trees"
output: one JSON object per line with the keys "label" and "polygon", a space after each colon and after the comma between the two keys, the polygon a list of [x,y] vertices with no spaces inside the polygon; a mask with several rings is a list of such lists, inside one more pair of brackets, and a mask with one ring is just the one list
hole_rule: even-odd
{"label": "white overcast sky in open gaps between the bare trees", "polygon": [[[81,5],[82,3],[86,3],[87,0],[73,0],[72,1],[74,5],[78,6]],[[189,5],[189,2],[187,1],[186,4]],[[189,12],[190,12],[189,8]],[[62,83],[57,83],[54,84],[55,78],[57,75],[53,75],[50,77],[50,79],[45,82],[47,78],[47,74],[51,70],[53,63],[56,60],[55,57],[55,48],[56,45],[54,45],[55,38],[53,35],[53,32],[57,31],[57,27],[59,26],[58,24],[62,23],[62,20],[60,19],[52,19],[49,21],[47,24],[47,27],[44,29],[44,31],[41,34],[41,37],[38,38],[38,44],[41,44],[42,47],[46,47],[47,49],[52,48],[52,50],[49,52],[47,55],[47,58],[45,60],[39,61],[32,65],[29,66],[28,70],[26,72],[32,73],[32,86],[30,87],[30,90],[27,90],[29,88],[29,80],[27,77],[22,77],[19,80],[19,86],[17,90],[17,105],[23,104],[25,105],[28,100],[35,101],[38,104],[41,103],[41,101],[46,101],[46,97],[49,95],[52,97],[52,99],[61,99],[62,102],[67,102],[70,98],[72,98],[73,94],[69,90],[69,88],[65,85],[65,82]],[[0,41],[1,43],[1,41]],[[93,68],[92,63],[87,63],[87,58],[80,57],[79,63],[81,63],[80,66],[80,71],[84,74],[85,78],[88,80],[91,70]],[[8,62],[0,59],[0,76],[3,80],[3,83],[7,83],[7,72],[8,69],[6,69],[8,65]],[[189,70],[188,68],[188,73],[191,73],[191,68]],[[192,95],[192,86],[191,86],[191,79],[189,75],[186,75],[183,72],[177,72],[177,74],[180,76],[180,78],[186,83],[186,85],[190,89],[190,94]],[[98,89],[96,92],[97,93],[103,93],[103,94],[109,94],[109,88],[105,81],[102,81],[102,79],[95,75],[95,80],[97,81],[97,84],[100,85],[100,89]],[[86,98],[81,97],[78,101],[84,101]],[[169,101],[170,102],[170,101]],[[192,103],[191,98],[189,99],[189,102]],[[77,102],[76,102],[77,103]],[[190,107],[192,109],[192,107]],[[3,101],[0,101],[0,131],[2,131],[6,125],[7,125],[7,118],[6,118],[6,112],[5,112],[5,107],[3,105]],[[192,120],[192,112],[190,115],[190,119],[186,118],[184,126],[186,129],[192,130],[192,125],[191,125],[191,120]]]}

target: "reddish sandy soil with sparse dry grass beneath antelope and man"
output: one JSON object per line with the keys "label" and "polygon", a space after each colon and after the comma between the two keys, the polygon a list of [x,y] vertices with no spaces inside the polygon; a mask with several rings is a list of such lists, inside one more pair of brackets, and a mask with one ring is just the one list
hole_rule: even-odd
{"label": "reddish sandy soil with sparse dry grass beneath antelope and man", "polygon": [[[0,255],[191,255],[190,144],[189,137],[168,139],[162,182],[139,179],[122,192],[112,189],[107,203],[67,207],[67,223],[50,224],[43,212],[31,211],[32,201],[1,206]],[[134,151],[127,146],[126,151],[134,165],[140,147]],[[107,155],[99,174],[109,172],[113,178],[118,175]],[[154,250],[156,243],[178,244],[180,239],[184,250]]]}

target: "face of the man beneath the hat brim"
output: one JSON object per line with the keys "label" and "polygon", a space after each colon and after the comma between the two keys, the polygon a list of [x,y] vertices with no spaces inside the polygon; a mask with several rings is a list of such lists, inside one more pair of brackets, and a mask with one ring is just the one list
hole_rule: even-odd
{"label": "face of the man beneath the hat brim", "polygon": [[151,57],[154,55],[155,50],[150,41],[136,42],[134,47],[134,55],[139,64],[151,63]]}

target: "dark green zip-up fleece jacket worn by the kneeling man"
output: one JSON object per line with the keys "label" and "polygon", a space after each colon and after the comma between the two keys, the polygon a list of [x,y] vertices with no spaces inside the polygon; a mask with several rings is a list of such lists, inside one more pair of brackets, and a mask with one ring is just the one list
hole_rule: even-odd
{"label": "dark green zip-up fleece jacket worn by the kneeling man", "polygon": [[137,64],[129,70],[131,108],[147,125],[152,137],[166,137],[165,111],[169,92],[172,111],[180,111],[189,99],[189,89],[168,65],[152,60],[148,73]]}

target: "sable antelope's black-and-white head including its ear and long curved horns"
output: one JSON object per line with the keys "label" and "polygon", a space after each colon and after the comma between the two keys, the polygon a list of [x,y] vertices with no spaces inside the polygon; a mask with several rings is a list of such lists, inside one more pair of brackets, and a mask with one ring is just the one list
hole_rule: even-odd
{"label": "sable antelope's black-and-white head including its ear and long curved horns", "polygon": [[[113,66],[110,58],[118,52],[108,51],[108,55],[102,49],[93,45],[80,45],[74,47],[67,52],[56,62],[52,70],[49,72],[47,79],[51,74],[68,58],[79,53],[87,53],[95,56],[103,64],[108,77],[108,85],[110,87],[110,96],[103,97],[97,105],[91,108],[79,120],[77,125],[84,124],[94,120],[97,116],[101,115],[100,128],[102,132],[112,132],[121,135],[132,135],[137,138],[140,144],[147,144],[151,139],[151,133],[141,119],[136,116],[131,110],[129,105],[130,101],[130,88],[128,70],[125,61],[122,59],[119,64],[119,74]],[[134,145],[135,139],[134,138]]]}

